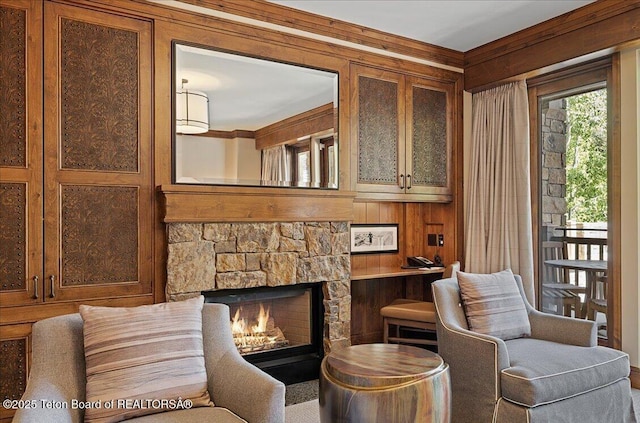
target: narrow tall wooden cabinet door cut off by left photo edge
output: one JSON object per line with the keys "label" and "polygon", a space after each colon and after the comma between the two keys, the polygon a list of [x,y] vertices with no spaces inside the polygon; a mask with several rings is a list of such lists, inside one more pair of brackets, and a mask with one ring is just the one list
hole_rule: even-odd
{"label": "narrow tall wooden cabinet door cut off by left photo edge", "polygon": [[0,307],[42,301],[42,3],[0,0]]}

